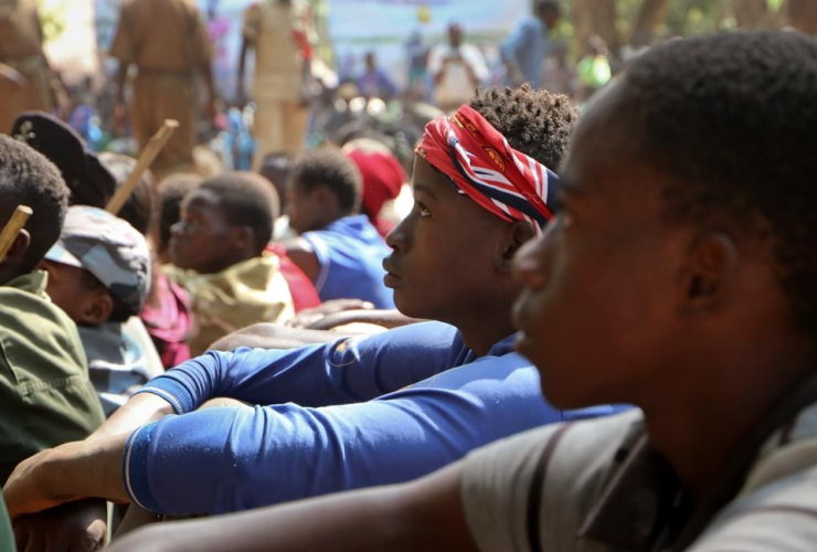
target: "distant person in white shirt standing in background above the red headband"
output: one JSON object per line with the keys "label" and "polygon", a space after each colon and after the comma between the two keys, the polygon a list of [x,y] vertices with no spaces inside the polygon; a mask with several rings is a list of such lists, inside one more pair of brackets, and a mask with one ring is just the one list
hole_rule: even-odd
{"label": "distant person in white shirt standing in background above the red headband", "polygon": [[428,71],[434,77],[434,99],[444,112],[467,104],[474,91],[488,78],[488,65],[477,46],[463,43],[459,23],[448,25],[448,43],[437,44],[428,54]]}

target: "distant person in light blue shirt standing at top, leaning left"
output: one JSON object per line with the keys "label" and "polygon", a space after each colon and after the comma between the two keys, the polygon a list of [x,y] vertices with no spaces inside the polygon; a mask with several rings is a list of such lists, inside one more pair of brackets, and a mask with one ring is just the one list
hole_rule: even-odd
{"label": "distant person in light blue shirt standing at top, leaning left", "polygon": [[550,50],[549,34],[562,12],[555,0],[539,0],[535,6],[535,15],[520,21],[499,47],[509,86],[530,83],[532,88],[539,88],[542,85],[542,63]]}

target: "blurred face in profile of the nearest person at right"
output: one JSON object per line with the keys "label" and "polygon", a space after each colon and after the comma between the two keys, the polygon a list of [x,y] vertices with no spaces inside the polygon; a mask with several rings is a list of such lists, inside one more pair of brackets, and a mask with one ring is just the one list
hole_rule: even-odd
{"label": "blurred face in profile of the nearest person at right", "polygon": [[[682,329],[686,230],[662,222],[660,177],[611,136],[622,93],[616,83],[583,115],[561,174],[563,209],[516,258],[526,285],[517,347],[561,408],[629,402],[661,376]],[[616,125],[620,138],[627,120]]]}

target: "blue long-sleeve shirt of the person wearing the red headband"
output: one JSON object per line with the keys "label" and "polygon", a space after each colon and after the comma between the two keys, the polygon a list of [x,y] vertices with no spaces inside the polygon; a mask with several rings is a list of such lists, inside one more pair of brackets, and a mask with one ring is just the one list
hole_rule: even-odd
{"label": "blue long-sleeve shirt of the person wearing the red headband", "polygon": [[[184,415],[130,435],[127,492],[176,516],[256,508],[414,479],[520,431],[616,411],[553,408],[511,343],[476,358],[455,328],[427,322],[288,351],[210,352],[140,391]],[[216,396],[270,406],[191,413]]]}

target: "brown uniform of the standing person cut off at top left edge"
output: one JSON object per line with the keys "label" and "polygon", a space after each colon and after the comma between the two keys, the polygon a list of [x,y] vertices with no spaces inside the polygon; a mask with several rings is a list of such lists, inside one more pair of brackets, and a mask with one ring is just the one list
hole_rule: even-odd
{"label": "brown uniform of the standing person cut off at top left edge", "polygon": [[8,134],[22,112],[53,108],[35,0],[0,0],[0,63],[25,77],[22,89],[0,82],[0,132]]}

